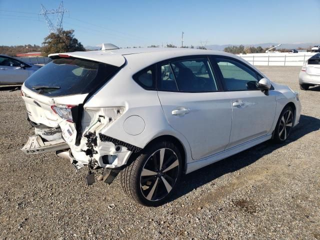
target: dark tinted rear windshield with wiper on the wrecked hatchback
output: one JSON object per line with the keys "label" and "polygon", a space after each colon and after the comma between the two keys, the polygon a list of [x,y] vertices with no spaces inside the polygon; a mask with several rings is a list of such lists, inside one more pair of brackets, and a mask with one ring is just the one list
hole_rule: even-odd
{"label": "dark tinted rear windshield with wiper on the wrecked hatchback", "polygon": [[102,86],[117,66],[79,58],[58,58],[34,72],[24,85],[46,96],[89,93]]}

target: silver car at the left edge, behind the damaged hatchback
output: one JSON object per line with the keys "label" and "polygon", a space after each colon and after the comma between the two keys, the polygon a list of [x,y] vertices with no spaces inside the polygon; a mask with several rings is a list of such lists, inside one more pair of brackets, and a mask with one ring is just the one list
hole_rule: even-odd
{"label": "silver car at the left edge, behind the damaged hatchback", "polygon": [[40,67],[0,54],[0,85],[22,84]]}

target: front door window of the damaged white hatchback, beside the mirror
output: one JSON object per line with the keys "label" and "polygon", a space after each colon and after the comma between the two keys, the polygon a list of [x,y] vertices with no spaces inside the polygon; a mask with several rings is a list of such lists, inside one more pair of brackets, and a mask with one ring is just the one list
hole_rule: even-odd
{"label": "front door window of the damaged white hatchback, beside the mirror", "polygon": [[259,77],[245,64],[229,58],[217,57],[224,88],[229,91],[257,89]]}

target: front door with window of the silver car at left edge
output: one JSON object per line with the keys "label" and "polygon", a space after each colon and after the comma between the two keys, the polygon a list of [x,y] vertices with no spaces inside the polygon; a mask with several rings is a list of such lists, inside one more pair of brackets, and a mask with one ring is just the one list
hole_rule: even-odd
{"label": "front door with window of the silver car at left edge", "polygon": [[22,83],[28,76],[28,70],[20,67],[21,62],[7,56],[0,56],[0,82],[4,84]]}

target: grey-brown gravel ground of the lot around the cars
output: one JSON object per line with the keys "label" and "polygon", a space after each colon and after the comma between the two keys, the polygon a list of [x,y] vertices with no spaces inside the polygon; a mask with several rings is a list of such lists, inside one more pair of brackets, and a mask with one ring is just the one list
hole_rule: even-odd
{"label": "grey-brown gravel ground of the lot around the cars", "polygon": [[[0,90],[0,239],[320,239],[320,87],[300,67],[259,67],[300,92],[285,144],[261,143],[182,177],[170,202],[147,208],[111,185],[84,184],[54,153],[25,155],[33,134],[19,91]],[[108,205],[114,204],[113,209]]]}

